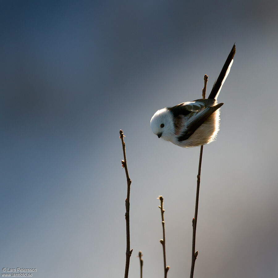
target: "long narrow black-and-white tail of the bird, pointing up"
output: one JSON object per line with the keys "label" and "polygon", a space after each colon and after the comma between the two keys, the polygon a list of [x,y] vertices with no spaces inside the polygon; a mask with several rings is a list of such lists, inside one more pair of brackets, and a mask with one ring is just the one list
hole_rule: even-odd
{"label": "long narrow black-and-white tail of the bird, pointing up", "polygon": [[217,99],[220,91],[221,91],[221,88],[230,72],[230,69],[231,69],[231,66],[233,64],[233,58],[234,58],[234,54],[235,54],[235,44],[227,58],[227,60],[225,61],[225,64],[216,80],[216,82],[214,83],[213,85],[213,88],[209,94],[209,97],[208,99]]}

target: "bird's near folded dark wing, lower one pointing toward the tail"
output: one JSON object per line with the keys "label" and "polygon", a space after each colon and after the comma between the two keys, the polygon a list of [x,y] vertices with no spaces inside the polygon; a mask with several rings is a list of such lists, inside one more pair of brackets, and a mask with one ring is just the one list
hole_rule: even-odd
{"label": "bird's near folded dark wing, lower one pointing toward the tail", "polygon": [[192,116],[192,120],[188,120],[186,131],[183,132],[180,137],[178,137],[178,140],[187,140],[196,131],[196,129],[200,127],[200,125],[203,124],[204,121],[207,120],[208,117],[218,108],[220,108],[223,104],[224,103],[219,103],[213,107],[207,107],[203,111],[198,112],[196,116]]}

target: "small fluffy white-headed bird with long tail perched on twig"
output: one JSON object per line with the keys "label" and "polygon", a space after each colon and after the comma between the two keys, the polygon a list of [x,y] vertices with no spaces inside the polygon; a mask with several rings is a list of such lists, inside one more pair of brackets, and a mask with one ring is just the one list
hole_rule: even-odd
{"label": "small fluffy white-headed bird with long tail perched on twig", "polygon": [[220,121],[219,108],[224,104],[217,103],[217,97],[230,73],[235,51],[234,44],[207,99],[183,102],[154,113],[150,126],[158,138],[184,148],[208,144],[216,139]]}

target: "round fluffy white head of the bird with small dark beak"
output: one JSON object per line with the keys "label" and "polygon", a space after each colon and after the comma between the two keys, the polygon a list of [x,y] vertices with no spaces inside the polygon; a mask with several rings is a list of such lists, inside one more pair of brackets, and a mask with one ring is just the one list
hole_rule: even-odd
{"label": "round fluffy white head of the bird with small dark beak", "polygon": [[172,141],[175,134],[174,119],[167,108],[163,108],[154,113],[150,121],[151,129],[158,138]]}

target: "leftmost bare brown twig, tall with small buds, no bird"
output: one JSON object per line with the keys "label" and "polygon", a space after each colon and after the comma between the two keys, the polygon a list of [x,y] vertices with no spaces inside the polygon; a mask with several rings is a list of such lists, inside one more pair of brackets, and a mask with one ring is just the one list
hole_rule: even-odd
{"label": "leftmost bare brown twig, tall with small buds, no bird", "polygon": [[128,169],[127,169],[127,163],[126,163],[126,154],[125,154],[125,142],[124,142],[124,133],[120,129],[120,139],[122,141],[123,145],[123,153],[124,153],[124,160],[122,160],[122,166],[125,170],[126,180],[127,180],[127,197],[125,199],[125,221],[126,221],[126,260],[125,260],[125,272],[124,272],[124,278],[128,278],[128,269],[129,269],[129,260],[131,253],[133,249],[130,250],[130,234],[129,234],[129,196],[130,196],[130,185],[131,185],[131,179],[128,175]]}

